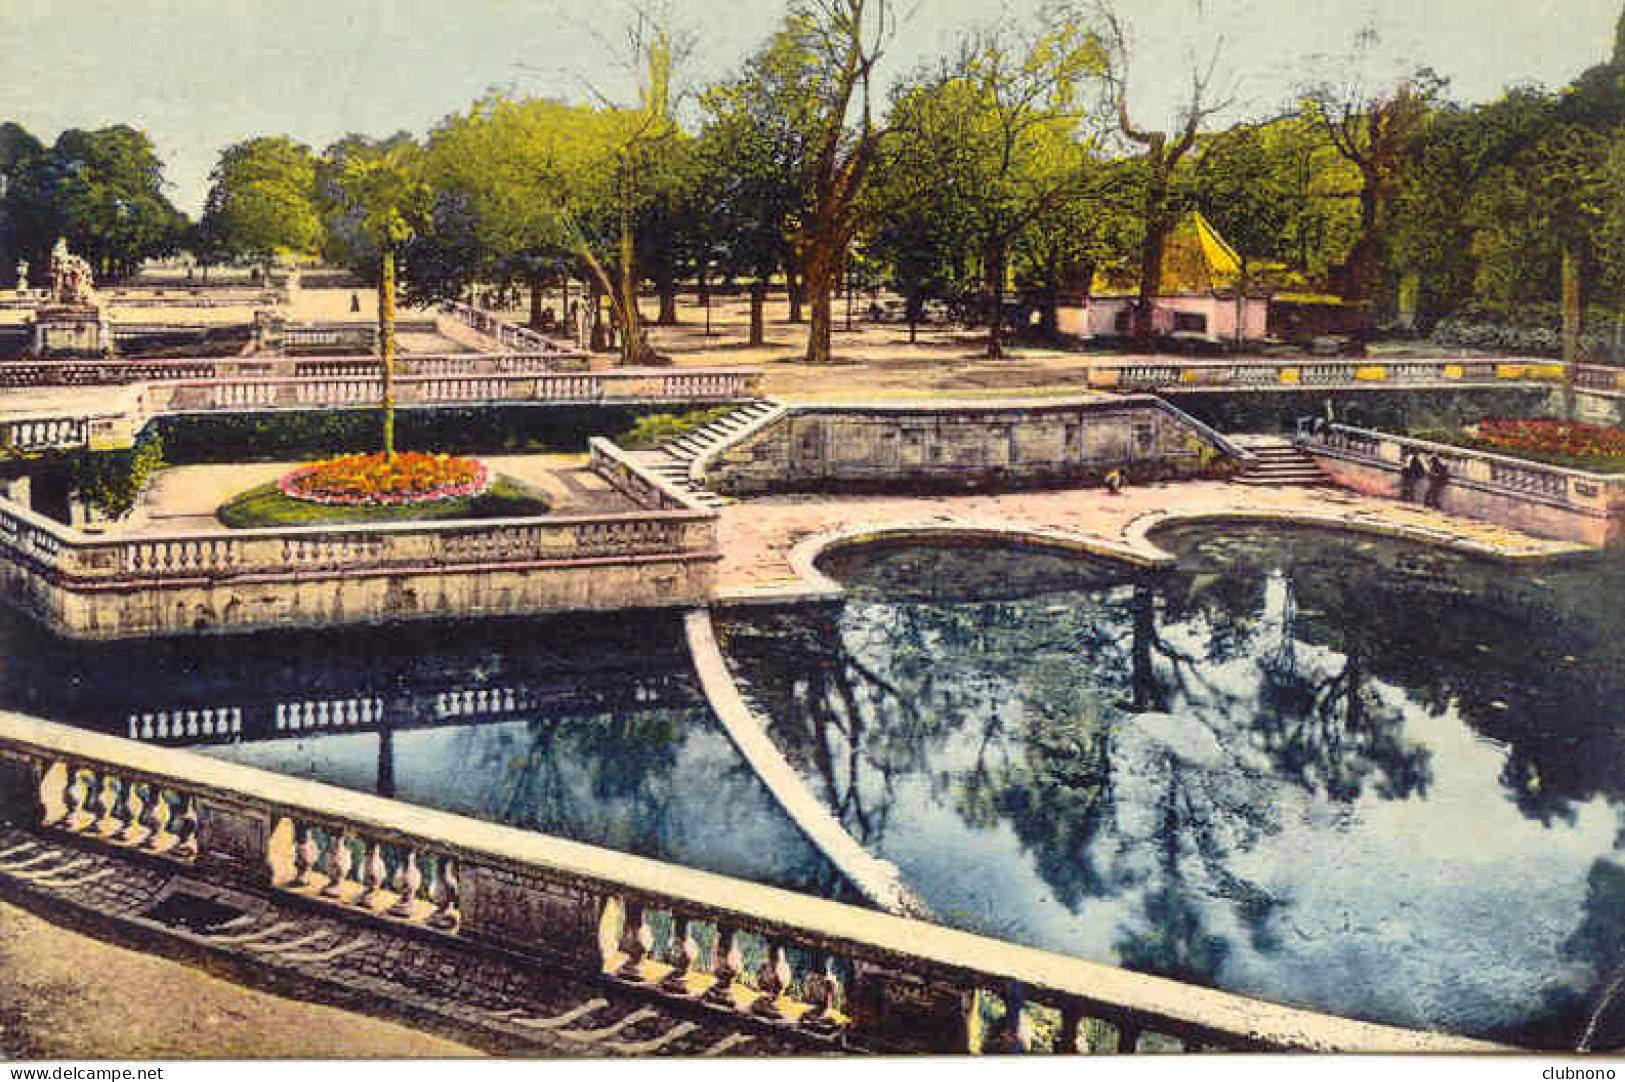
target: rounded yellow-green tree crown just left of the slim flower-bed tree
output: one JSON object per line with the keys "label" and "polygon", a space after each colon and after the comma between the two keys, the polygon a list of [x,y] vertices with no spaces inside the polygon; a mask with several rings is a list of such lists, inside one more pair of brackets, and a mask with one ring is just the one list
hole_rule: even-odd
{"label": "rounded yellow-green tree crown just left of the slim flower-bed tree", "polygon": [[228,146],[210,174],[203,232],[226,257],[270,262],[322,245],[315,156],[284,135]]}

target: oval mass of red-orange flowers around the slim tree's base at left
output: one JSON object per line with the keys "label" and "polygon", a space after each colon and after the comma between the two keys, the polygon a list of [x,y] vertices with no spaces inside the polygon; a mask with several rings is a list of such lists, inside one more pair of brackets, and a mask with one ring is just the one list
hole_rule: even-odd
{"label": "oval mass of red-orange flowers around the slim tree's base at left", "polygon": [[479,496],[489,484],[491,473],[474,458],[408,452],[318,461],[284,474],[276,487],[312,504],[400,507]]}

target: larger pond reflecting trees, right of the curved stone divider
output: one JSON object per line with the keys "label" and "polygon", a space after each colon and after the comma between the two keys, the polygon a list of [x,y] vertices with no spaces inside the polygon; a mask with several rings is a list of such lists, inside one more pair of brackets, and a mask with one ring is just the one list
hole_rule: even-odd
{"label": "larger pond reflecting trees, right of the curved stone divider", "polygon": [[1157,543],[1176,570],[835,554],[843,606],[730,617],[725,650],[942,923],[1575,1046],[1625,972],[1625,564],[1232,525]]}

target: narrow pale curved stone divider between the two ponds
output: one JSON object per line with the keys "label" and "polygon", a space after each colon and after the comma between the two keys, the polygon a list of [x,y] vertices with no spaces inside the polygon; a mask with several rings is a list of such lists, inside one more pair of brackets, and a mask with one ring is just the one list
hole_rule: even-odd
{"label": "narrow pale curved stone divider between the two ponds", "polygon": [[682,627],[687,634],[694,669],[700,677],[700,689],[705,692],[712,712],[791,822],[871,903],[894,916],[933,920],[931,908],[904,885],[897,866],[863,848],[812,794],[801,775],[767,736],[765,721],[744,702],[733,673],[728,671],[722,647],[717,643],[710,612],[707,609],[686,612]]}

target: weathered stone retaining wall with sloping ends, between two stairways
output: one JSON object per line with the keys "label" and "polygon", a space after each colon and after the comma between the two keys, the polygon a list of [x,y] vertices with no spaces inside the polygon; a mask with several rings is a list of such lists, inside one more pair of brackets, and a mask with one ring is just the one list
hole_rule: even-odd
{"label": "weathered stone retaining wall with sloping ends, between two stairways", "polygon": [[718,492],[1019,487],[1222,471],[1246,452],[1149,395],[790,406],[696,463]]}

